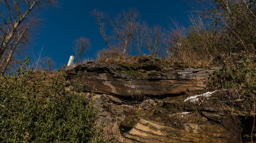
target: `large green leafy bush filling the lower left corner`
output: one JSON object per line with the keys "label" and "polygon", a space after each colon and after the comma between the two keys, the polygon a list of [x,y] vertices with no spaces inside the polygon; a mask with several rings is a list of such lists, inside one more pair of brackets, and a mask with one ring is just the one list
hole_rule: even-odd
{"label": "large green leafy bush filling the lower left corner", "polygon": [[91,94],[65,92],[65,72],[34,73],[28,58],[0,77],[0,142],[104,142]]}

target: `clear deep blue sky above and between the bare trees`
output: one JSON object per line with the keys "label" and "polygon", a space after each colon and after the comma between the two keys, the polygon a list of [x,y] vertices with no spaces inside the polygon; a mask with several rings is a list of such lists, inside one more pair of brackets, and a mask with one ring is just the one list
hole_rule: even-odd
{"label": "clear deep blue sky above and between the bare trees", "polygon": [[99,49],[106,48],[99,27],[91,12],[94,9],[108,12],[111,17],[118,13],[135,8],[139,11],[141,19],[152,25],[161,25],[168,28],[170,18],[176,19],[180,24],[188,25],[188,15],[191,8],[180,0],[129,0],[129,1],[64,1],[59,0],[58,7],[47,8],[40,14],[43,25],[33,37],[30,53],[38,56],[43,46],[42,57],[51,57],[58,66],[67,64],[70,55],[74,55],[73,41],[79,37],[91,40],[90,50],[84,54],[83,59],[95,59]]}

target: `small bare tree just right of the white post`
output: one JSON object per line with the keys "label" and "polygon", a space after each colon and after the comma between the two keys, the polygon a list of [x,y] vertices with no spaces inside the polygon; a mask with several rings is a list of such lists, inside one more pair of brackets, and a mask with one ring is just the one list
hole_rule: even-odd
{"label": "small bare tree just right of the white post", "polygon": [[75,52],[75,59],[74,61],[77,64],[81,64],[81,57],[82,55],[87,52],[91,46],[90,39],[80,37],[79,39],[76,39],[74,42],[73,50]]}

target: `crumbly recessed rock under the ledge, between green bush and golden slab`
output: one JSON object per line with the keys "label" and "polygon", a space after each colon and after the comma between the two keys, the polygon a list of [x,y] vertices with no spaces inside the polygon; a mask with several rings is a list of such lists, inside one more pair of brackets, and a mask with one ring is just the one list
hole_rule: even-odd
{"label": "crumbly recessed rock under the ledge, between green bush and golden slab", "polygon": [[[88,93],[89,94],[89,93]],[[158,101],[148,99],[143,102],[131,102],[129,100],[119,99],[117,97],[106,94],[94,95],[95,107],[99,110],[97,123],[100,125],[103,123],[104,135],[111,142],[116,142],[123,130],[120,124],[126,121],[127,117],[136,116],[135,111],[139,106],[145,107],[146,105],[157,106]],[[130,115],[133,113],[133,115]],[[129,120],[131,122],[131,120]],[[135,120],[133,124],[136,124],[138,120]],[[130,130],[131,127],[129,127]]]}

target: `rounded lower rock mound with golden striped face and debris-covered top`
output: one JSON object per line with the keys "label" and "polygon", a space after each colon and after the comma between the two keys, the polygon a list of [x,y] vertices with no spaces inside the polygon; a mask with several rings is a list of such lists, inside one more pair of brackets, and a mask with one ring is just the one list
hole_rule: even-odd
{"label": "rounded lower rock mound with golden striped face and debris-covered top", "polygon": [[243,125],[238,116],[231,116],[222,106],[204,106],[208,104],[204,100],[184,99],[158,100],[117,142],[242,142]]}

